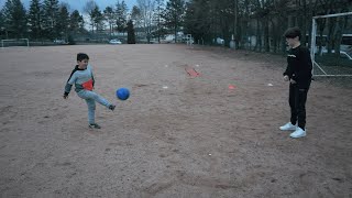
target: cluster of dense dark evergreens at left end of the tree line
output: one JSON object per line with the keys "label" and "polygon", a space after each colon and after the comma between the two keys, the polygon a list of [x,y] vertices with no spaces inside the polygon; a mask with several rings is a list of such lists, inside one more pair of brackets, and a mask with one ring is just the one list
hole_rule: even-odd
{"label": "cluster of dense dark evergreens at left end of the tree line", "polygon": [[84,32],[85,21],[77,11],[58,0],[32,0],[29,10],[20,0],[8,0],[0,10],[2,38],[58,38],[70,32]]}

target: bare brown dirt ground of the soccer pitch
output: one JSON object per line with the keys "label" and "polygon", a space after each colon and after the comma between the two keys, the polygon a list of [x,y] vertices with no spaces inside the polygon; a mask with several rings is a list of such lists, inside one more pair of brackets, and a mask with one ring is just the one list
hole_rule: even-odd
{"label": "bare brown dirt ground of the soccer pitch", "polygon": [[[97,105],[100,130],[74,90],[62,98],[78,52],[117,105]],[[352,197],[352,89],[314,81],[307,136],[293,140],[278,130],[283,56],[80,45],[2,48],[0,65],[0,197]]]}

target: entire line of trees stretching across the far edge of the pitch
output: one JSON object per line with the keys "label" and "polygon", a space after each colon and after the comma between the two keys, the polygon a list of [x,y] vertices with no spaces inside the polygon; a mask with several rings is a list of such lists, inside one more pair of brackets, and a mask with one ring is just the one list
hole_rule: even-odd
{"label": "entire line of trees stretching across the far edge of the pitch", "polygon": [[[220,37],[224,45],[237,48],[283,52],[282,34],[289,26],[299,26],[310,37],[311,18],[352,9],[351,0],[138,0],[129,10],[125,2],[101,10],[95,0],[82,6],[82,12],[69,12],[69,4],[58,0],[32,0],[26,10],[20,0],[7,0],[0,10],[0,36],[53,40],[79,33],[124,33],[134,25],[136,34],[148,42],[166,34],[180,41],[179,32],[191,34],[196,43],[213,44]],[[87,16],[87,18],[84,18]],[[333,34],[351,29],[351,16],[318,20]],[[128,25],[129,23],[129,25]],[[319,30],[319,33],[326,31]],[[339,40],[339,37],[337,37]],[[331,44],[332,45],[332,44]]]}

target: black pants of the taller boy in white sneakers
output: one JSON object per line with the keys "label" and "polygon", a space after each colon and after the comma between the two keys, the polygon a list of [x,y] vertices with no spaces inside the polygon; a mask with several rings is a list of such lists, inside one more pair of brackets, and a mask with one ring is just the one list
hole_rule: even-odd
{"label": "black pants of the taller boy in white sneakers", "polygon": [[309,88],[299,89],[297,84],[289,84],[290,122],[305,130],[306,128],[306,101]]}

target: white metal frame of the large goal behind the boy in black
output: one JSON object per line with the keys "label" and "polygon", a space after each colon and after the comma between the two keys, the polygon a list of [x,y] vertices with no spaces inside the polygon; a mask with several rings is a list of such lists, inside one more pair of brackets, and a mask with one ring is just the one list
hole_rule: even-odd
{"label": "white metal frame of the large goal behind the boy in black", "polygon": [[321,65],[319,65],[316,62],[316,42],[317,42],[317,19],[322,19],[322,18],[337,18],[337,16],[345,16],[345,15],[352,15],[352,12],[345,12],[345,13],[337,13],[337,14],[327,14],[327,15],[316,15],[312,18],[312,23],[311,23],[311,40],[310,40],[310,56],[311,56],[311,62],[312,62],[312,66],[315,68],[315,66],[317,66],[320,72],[322,73],[322,75],[315,75],[314,74],[314,69],[312,69],[312,74],[314,76],[352,76],[352,75],[343,75],[343,74],[338,74],[338,75],[331,75],[328,74],[328,72],[326,72]]}

